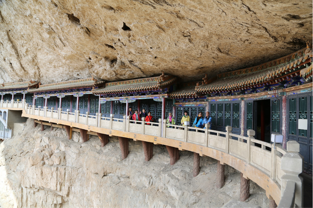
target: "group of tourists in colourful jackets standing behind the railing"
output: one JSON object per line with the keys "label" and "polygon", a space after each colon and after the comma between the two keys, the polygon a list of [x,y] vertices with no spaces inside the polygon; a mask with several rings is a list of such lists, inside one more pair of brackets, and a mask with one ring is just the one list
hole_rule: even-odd
{"label": "group of tourists in colourful jackets standing behind the railing", "polygon": [[[135,112],[132,111],[132,107],[129,108],[128,115],[131,116],[131,120],[134,121],[141,121],[142,117],[145,117],[146,122],[155,122],[155,119],[151,116],[151,112],[146,113],[145,109],[142,109],[142,112],[140,111],[138,113],[138,110],[135,110]],[[181,125],[185,126],[185,121],[190,122],[190,116],[188,116],[188,112],[184,111],[184,115],[182,116]],[[167,124],[175,125],[176,119],[174,115],[170,112],[167,117]],[[210,112],[206,112],[205,116],[202,115],[202,112],[199,112],[199,115],[196,117],[196,119],[193,121],[192,127],[195,128],[202,128],[205,129],[205,124],[211,124],[212,118],[210,116]],[[147,123],[147,125],[151,125],[150,123]],[[173,128],[173,126],[167,126],[170,128]],[[211,129],[211,126],[210,126]]]}

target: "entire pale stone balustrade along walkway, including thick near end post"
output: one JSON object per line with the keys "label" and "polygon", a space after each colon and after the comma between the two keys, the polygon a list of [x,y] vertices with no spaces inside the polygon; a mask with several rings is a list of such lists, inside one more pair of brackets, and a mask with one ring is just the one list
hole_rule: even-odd
{"label": "entire pale stone balustrade along walkway, including thick near end post", "polygon": [[[24,102],[24,101],[23,101]],[[214,131],[209,129],[209,124],[206,124],[205,129],[194,128],[189,126],[177,126],[166,124],[166,119],[159,119],[159,122],[146,122],[144,117],[142,121],[133,121],[131,117],[123,116],[123,119],[115,118],[114,114],[110,117],[105,117],[102,113],[96,113],[96,115],[90,115],[89,112],[81,114],[80,111],[74,113],[69,111],[62,111],[62,108],[54,110],[47,108],[36,108],[35,106],[28,106],[27,103],[13,102],[13,101],[1,101],[1,108],[16,108],[23,111],[23,116],[32,117],[40,116],[41,120],[54,119],[57,123],[72,125],[77,123],[85,125],[85,129],[90,129],[90,126],[104,128],[109,130],[116,130],[121,132],[134,133],[133,139],[136,140],[136,134],[156,136],[154,138],[165,138],[168,141],[179,141],[179,144],[188,143],[194,144],[200,149],[210,148],[215,152],[222,154],[222,156],[216,156],[221,164],[224,157],[223,154],[233,156],[232,158],[239,159],[238,161],[244,162],[244,166],[250,165],[256,170],[261,171],[266,177],[274,181],[274,183],[280,188],[281,193],[267,193],[279,202],[280,207],[293,207],[293,205],[301,206],[302,204],[302,181],[299,178],[299,174],[302,172],[303,158],[299,154],[299,144],[295,141],[287,142],[287,150],[283,149],[281,145],[271,145],[264,141],[254,139],[255,131],[248,130],[248,136],[240,136],[232,133],[232,127],[227,126],[226,132]],[[22,106],[24,106],[22,108]],[[28,116],[29,115],[29,116]],[[62,123],[64,121],[64,123]],[[150,125],[148,125],[150,124]],[[163,132],[162,132],[163,125]],[[119,135],[116,135],[119,136]],[[131,138],[131,137],[129,137]],[[166,143],[166,142],[165,142]],[[171,146],[171,143],[166,144]],[[183,148],[181,145],[177,147],[179,150]],[[200,150],[200,156],[202,156]],[[232,164],[231,161],[227,161],[228,165],[233,167],[239,167],[239,165]],[[249,172],[244,173],[247,177]],[[251,173],[252,174],[252,173]],[[266,191],[266,186],[269,186],[268,181],[255,181],[259,186],[263,187]],[[290,188],[291,187],[291,188]],[[268,190],[270,190],[269,187]],[[292,192],[292,193],[290,193]],[[291,199],[290,196],[293,196]],[[286,198],[286,200],[285,200]],[[284,200],[281,200],[284,199]],[[287,200],[288,199],[288,200]]]}

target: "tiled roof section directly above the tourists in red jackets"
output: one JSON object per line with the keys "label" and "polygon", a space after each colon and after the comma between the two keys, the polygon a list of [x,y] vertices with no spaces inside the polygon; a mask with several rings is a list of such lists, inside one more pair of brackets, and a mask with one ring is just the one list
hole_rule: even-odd
{"label": "tiled roof section directly above the tourists in red jackets", "polygon": [[93,94],[110,94],[123,92],[138,92],[149,90],[162,90],[176,82],[172,75],[162,74],[160,77],[133,79],[121,82],[109,82],[104,88],[92,90]]}

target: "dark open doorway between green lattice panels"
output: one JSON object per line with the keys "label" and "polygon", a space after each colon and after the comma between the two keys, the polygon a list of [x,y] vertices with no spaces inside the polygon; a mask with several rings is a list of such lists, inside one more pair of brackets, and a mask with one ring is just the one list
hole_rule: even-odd
{"label": "dark open doorway between green lattice panels", "polygon": [[270,143],[271,134],[271,101],[270,99],[254,102],[255,139]]}

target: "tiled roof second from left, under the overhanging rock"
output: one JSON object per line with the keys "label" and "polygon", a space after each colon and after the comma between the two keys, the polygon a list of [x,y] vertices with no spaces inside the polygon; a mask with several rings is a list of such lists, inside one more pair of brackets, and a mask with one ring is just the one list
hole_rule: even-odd
{"label": "tiled roof second from left, under the overhanging rock", "polygon": [[29,90],[28,92],[46,92],[46,91],[55,91],[55,90],[67,90],[67,89],[76,89],[76,88],[87,88],[87,87],[96,87],[99,84],[103,84],[102,80],[95,80],[92,78],[86,79],[77,79],[66,82],[57,82],[45,85],[39,85],[37,89]]}

